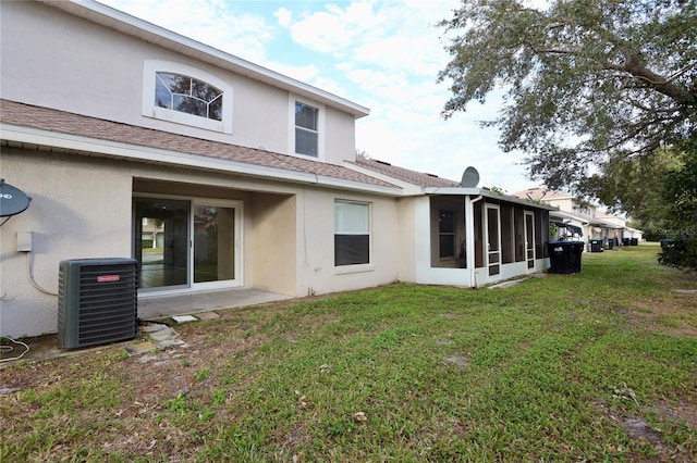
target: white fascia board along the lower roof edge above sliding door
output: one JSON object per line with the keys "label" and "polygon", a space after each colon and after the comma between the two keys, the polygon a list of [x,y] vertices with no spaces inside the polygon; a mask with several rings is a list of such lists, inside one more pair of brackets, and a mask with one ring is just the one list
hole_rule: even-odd
{"label": "white fascia board along the lower roof edge above sliding door", "polygon": [[288,171],[279,167],[247,164],[239,161],[207,158],[159,148],[147,148],[137,145],[120,143],[117,141],[80,137],[28,127],[12,126],[8,124],[0,124],[0,139],[19,143],[58,148],[68,151],[109,155],[139,162],[198,167],[240,175],[272,178],[290,183],[316,184],[326,187],[359,190],[387,196],[402,196],[402,189],[396,187],[391,188],[380,185],[368,185],[310,172]]}

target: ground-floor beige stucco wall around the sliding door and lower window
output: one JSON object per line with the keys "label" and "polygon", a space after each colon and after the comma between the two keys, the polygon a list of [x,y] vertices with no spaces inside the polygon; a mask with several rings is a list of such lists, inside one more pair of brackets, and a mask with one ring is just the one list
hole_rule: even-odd
{"label": "ground-floor beige stucco wall around the sliding door and lower window", "polygon": [[[105,158],[2,149],[0,176],[33,198],[0,228],[0,330],[35,336],[57,330],[57,296],[34,288],[17,232],[32,232],[35,281],[58,291],[59,262],[132,256],[132,197],[215,198],[243,208],[243,286],[304,297],[384,285],[411,238],[395,198]],[[334,200],[371,211],[371,264],[334,267]],[[408,229],[408,228],[406,228]],[[413,245],[412,245],[413,246]]]}

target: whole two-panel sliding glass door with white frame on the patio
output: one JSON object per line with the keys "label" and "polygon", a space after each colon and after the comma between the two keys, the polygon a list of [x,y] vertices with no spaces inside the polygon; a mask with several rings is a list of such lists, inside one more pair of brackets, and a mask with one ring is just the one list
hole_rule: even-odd
{"label": "whole two-panel sliding glass door with white frame on the patio", "polygon": [[134,198],[139,289],[241,285],[241,208],[236,201]]}

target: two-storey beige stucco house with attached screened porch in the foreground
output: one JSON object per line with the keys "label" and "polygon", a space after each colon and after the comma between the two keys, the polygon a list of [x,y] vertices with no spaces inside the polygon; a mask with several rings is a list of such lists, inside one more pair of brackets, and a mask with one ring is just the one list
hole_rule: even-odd
{"label": "two-storey beige stucco house with attached screened porch in the foreground", "polygon": [[138,299],[548,267],[555,208],[357,160],[357,103],[96,2],[0,21],[0,175],[33,199],[0,228],[2,335],[57,330],[71,259],[135,258]]}

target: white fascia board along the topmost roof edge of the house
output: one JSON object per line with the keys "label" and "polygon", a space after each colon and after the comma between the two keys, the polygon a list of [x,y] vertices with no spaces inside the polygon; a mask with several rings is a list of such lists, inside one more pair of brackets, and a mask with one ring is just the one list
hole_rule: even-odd
{"label": "white fascia board along the topmost roof edge of the house", "polygon": [[91,0],[39,1],[78,17],[84,17],[102,26],[117,29],[123,34],[132,35],[170,50],[188,54],[197,60],[207,61],[222,68],[246,75],[255,80],[264,82],[273,87],[318,100],[329,107],[339,108],[342,111],[352,114],[355,118],[360,118],[370,114],[370,110],[368,108],[358,103],[354,103],[353,101],[338,97],[326,90],[313,87],[311,85],[277,73],[276,71],[254,64],[222,50],[218,50],[172,30],[148,23],[147,21],[132,16],[111,7],[107,7],[106,4]]}

